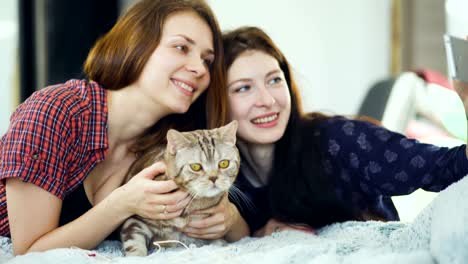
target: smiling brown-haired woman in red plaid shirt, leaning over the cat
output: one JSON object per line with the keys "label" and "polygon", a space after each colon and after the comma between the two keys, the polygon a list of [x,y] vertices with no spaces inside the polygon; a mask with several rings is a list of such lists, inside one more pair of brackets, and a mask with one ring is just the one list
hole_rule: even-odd
{"label": "smiling brown-haired woman in red plaid shirt, leaning over the cat", "polygon": [[22,103],[0,141],[0,235],[15,254],[90,249],[126,218],[169,219],[187,205],[155,164],[121,186],[128,167],[169,128],[226,122],[222,40],[202,0],[142,0],[99,39],[87,80]]}

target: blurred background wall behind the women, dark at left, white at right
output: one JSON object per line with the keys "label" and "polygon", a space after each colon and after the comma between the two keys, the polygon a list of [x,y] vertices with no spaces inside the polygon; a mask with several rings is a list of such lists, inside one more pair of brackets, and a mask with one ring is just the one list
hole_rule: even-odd
{"label": "blurred background wall behind the women, dark at left, white at right", "polygon": [[[401,2],[403,23],[397,71],[445,69],[443,0],[292,1],[208,0],[224,30],[256,25],[273,37],[293,65],[306,110],[356,114],[370,85],[392,74],[395,2]],[[31,92],[83,77],[89,48],[132,3],[4,0],[0,133],[12,108]]]}

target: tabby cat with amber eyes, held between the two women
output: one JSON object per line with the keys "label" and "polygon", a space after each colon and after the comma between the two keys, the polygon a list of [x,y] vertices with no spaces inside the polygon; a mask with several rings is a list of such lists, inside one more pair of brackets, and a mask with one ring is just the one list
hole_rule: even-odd
{"label": "tabby cat with amber eyes, held between the two women", "polygon": [[137,215],[127,219],[120,231],[125,255],[146,256],[153,242],[157,241],[178,240],[197,246],[213,242],[188,237],[177,228],[188,223],[193,217],[190,216],[192,211],[217,205],[229,191],[240,165],[236,131],[237,121],[211,130],[178,132],[171,129],[167,133],[166,147],[153,148],[132,165],[125,182],[143,168],[164,160],[166,173],[155,180],[173,179],[193,198],[183,213],[174,219],[151,220]]}

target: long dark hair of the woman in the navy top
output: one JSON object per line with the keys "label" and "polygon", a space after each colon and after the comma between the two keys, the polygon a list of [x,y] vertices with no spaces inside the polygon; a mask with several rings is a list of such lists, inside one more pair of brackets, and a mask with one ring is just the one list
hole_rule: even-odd
{"label": "long dark hair of the woman in the navy top", "polygon": [[278,61],[289,87],[291,115],[283,137],[276,142],[269,181],[272,217],[315,228],[358,219],[354,210],[337,198],[333,182],[324,174],[318,142],[312,136],[316,123],[330,117],[304,113],[291,67],[280,49],[257,27],[227,32],[223,42],[227,69],[243,52],[262,51]]}

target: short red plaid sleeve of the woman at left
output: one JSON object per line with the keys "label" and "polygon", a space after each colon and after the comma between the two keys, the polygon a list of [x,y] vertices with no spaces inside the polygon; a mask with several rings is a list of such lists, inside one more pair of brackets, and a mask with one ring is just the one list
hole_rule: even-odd
{"label": "short red plaid sleeve of the woman at left", "polygon": [[18,107],[0,144],[0,180],[20,178],[64,198],[73,146],[70,108],[55,96],[32,96]]}

